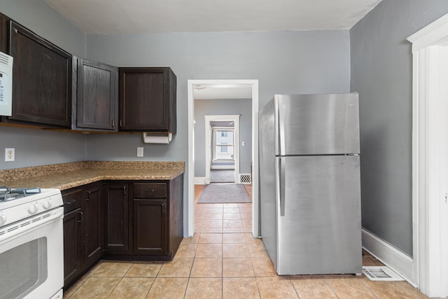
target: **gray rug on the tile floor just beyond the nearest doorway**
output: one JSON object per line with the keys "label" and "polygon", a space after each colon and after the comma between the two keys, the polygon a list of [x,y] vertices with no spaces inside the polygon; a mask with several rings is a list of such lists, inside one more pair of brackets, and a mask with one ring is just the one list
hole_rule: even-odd
{"label": "gray rug on the tile floor just beyond the nearest doorway", "polygon": [[251,202],[246,188],[241,184],[212,183],[204,187],[197,200],[200,204],[228,204],[237,202]]}

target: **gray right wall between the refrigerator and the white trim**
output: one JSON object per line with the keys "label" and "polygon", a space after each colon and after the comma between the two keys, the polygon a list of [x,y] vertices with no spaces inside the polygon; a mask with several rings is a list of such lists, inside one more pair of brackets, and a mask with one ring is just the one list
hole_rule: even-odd
{"label": "gray right wall between the refrigerator and the white trim", "polygon": [[350,30],[359,92],[363,227],[412,256],[412,53],[446,0],[383,0]]}

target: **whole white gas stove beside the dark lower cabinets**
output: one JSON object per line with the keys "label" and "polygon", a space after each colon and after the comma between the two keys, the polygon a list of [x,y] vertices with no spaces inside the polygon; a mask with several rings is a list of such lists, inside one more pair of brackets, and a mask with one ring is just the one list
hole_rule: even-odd
{"label": "whole white gas stove beside the dark lower cabinets", "polygon": [[62,299],[63,204],[59,189],[0,187],[0,299]]}

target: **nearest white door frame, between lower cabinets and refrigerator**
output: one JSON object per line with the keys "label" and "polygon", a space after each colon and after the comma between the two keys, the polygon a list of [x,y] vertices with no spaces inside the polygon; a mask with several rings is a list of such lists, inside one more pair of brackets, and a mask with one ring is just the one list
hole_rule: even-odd
{"label": "nearest white door frame, between lower cabinets and refrigerator", "polygon": [[258,80],[188,80],[188,236],[195,234],[195,95],[193,85],[252,88],[252,235],[258,237]]}

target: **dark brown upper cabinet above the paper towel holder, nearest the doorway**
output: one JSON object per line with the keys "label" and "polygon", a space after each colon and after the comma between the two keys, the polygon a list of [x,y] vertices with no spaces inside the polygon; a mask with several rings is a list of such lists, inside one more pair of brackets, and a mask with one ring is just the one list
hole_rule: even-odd
{"label": "dark brown upper cabinet above the paper towel holder, nearest the doorway", "polygon": [[176,75],[169,67],[123,67],[120,131],[176,134]]}

